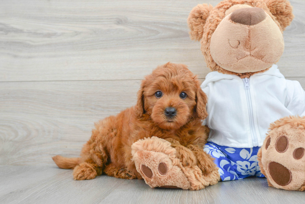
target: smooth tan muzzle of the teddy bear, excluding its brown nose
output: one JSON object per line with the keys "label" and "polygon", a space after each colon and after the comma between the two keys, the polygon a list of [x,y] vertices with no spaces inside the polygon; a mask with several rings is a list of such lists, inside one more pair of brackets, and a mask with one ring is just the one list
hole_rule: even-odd
{"label": "smooth tan muzzle of the teddy bear, excluding its brown nose", "polygon": [[278,26],[267,14],[253,26],[235,23],[230,19],[233,13],[220,22],[211,37],[210,53],[214,61],[235,73],[249,70],[257,73],[270,68],[284,52],[283,35]]}

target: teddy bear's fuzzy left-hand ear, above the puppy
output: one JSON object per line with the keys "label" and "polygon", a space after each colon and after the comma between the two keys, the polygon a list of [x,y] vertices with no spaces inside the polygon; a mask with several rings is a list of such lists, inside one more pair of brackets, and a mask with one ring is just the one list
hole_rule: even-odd
{"label": "teddy bear's fuzzy left-hand ear, above the puppy", "polygon": [[205,21],[209,17],[209,12],[213,9],[211,4],[198,4],[192,9],[187,19],[190,28],[190,38],[192,40],[201,40]]}

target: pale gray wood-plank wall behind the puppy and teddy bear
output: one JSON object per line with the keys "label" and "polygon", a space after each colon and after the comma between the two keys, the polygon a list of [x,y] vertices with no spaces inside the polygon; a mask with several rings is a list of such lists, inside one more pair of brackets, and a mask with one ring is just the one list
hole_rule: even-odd
{"label": "pale gray wood-plank wall behind the puppy and teddy bear", "polygon": [[[158,64],[209,69],[186,19],[192,1],[0,1],[0,164],[54,165],[79,155],[93,123],[133,106]],[[305,87],[305,1],[278,66]]]}

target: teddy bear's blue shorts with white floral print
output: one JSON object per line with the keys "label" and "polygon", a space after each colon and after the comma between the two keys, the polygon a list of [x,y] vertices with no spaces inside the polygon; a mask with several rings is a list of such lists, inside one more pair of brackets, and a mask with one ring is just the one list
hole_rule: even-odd
{"label": "teddy bear's blue shorts with white floral print", "polygon": [[238,180],[249,176],[265,177],[260,172],[257,152],[260,147],[232,148],[212,142],[204,145],[204,151],[215,158],[218,172],[223,181]]}

